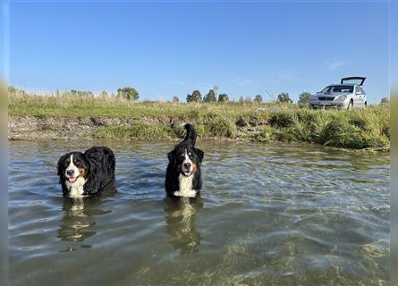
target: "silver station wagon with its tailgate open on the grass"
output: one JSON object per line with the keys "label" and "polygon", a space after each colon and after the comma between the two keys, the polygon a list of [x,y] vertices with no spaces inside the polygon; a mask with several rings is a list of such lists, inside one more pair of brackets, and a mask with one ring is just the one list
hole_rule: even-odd
{"label": "silver station wagon with its tailgate open on the grass", "polygon": [[331,84],[309,99],[313,108],[334,107],[339,109],[363,108],[368,104],[362,85],[364,77],[343,78],[340,84]]}

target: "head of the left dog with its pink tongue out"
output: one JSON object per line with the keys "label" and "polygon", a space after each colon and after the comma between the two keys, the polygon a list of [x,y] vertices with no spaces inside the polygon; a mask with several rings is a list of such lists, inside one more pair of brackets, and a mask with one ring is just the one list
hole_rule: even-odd
{"label": "head of the left dog with its pink tongue out", "polygon": [[89,172],[89,161],[81,152],[65,154],[58,160],[58,176],[71,184],[79,178],[86,179]]}

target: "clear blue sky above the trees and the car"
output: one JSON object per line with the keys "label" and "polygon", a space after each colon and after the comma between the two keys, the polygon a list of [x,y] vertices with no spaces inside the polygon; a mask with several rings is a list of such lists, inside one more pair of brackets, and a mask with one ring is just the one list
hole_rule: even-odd
{"label": "clear blue sky above the trees and the car", "polygon": [[315,93],[366,76],[389,94],[388,2],[12,2],[12,85],[185,100]]}

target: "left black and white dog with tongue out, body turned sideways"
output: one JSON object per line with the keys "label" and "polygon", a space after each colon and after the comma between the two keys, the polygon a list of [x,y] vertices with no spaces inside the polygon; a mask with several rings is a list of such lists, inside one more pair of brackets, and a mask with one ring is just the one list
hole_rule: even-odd
{"label": "left black and white dog with tongue out, body turned sideways", "polygon": [[114,152],[108,147],[92,147],[84,154],[65,154],[58,161],[64,196],[82,198],[102,191],[114,181],[114,164]]}

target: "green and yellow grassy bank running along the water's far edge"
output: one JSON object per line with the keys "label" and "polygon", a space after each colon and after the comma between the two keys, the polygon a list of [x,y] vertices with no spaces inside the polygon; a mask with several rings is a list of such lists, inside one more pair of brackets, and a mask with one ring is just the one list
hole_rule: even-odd
{"label": "green and yellow grassy bank running along the water's far edge", "polygon": [[114,97],[9,96],[10,115],[137,119],[131,126],[100,126],[96,139],[174,139],[191,122],[205,138],[259,142],[300,141],[332,147],[388,148],[389,105],[363,110],[311,110],[298,105],[132,103]]}

